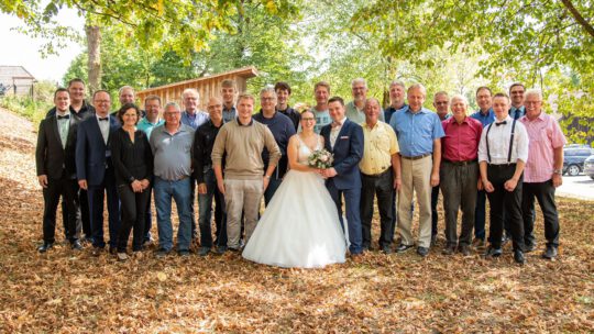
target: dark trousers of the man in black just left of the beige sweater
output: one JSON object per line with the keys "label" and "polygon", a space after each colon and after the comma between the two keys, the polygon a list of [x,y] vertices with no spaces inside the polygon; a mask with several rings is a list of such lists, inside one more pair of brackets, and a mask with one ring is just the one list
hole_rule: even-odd
{"label": "dark trousers of the man in black just left of the beige sweater", "polygon": [[198,193],[200,245],[208,248],[212,247],[211,216],[212,200],[215,199],[215,224],[217,226],[217,238],[215,240],[215,243],[217,246],[226,247],[227,213],[224,212],[224,197],[219,191],[219,187],[217,187],[217,179],[215,178],[215,171],[212,169],[205,171],[205,183],[207,186],[207,193]]}

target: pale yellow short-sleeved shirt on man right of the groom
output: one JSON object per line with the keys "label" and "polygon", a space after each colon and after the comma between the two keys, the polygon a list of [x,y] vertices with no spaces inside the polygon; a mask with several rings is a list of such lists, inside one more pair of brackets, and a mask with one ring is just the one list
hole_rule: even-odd
{"label": "pale yellow short-sleeved shirt on man right of the groom", "polygon": [[392,155],[400,152],[396,133],[382,121],[377,121],[373,127],[365,122],[361,123],[361,126],[365,146],[359,168],[366,175],[382,174],[392,167]]}

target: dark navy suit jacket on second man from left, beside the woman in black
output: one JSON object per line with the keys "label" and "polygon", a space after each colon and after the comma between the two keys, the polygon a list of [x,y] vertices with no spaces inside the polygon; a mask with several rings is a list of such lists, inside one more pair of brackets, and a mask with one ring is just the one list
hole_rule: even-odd
{"label": "dark navy suit jacket on second man from left, beside the woman in black", "polygon": [[76,138],[76,177],[78,180],[87,180],[89,186],[98,186],[103,181],[108,166],[106,151],[109,149],[111,132],[119,127],[120,123],[116,118],[109,116],[110,135],[106,145],[99,129],[99,121],[95,115],[78,124]]}

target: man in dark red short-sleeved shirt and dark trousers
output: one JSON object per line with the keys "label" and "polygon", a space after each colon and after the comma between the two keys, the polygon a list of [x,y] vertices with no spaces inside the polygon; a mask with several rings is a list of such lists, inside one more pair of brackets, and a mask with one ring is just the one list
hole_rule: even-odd
{"label": "man in dark red short-sleeved shirt and dark trousers", "polygon": [[[446,215],[447,243],[443,254],[447,255],[453,254],[457,248],[462,255],[470,255],[474,227],[479,183],[477,155],[483,125],[477,120],[466,116],[468,107],[466,98],[454,96],[451,100],[453,116],[441,122],[446,136],[441,138],[443,155],[439,179]],[[457,222],[460,208],[462,229],[459,238]]]}

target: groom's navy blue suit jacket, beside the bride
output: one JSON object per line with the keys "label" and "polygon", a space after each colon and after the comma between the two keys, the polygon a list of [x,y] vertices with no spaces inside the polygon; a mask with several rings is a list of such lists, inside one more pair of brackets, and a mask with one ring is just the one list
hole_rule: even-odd
{"label": "groom's navy blue suit jacket, beside the bride", "polygon": [[334,154],[333,167],[338,175],[326,182],[333,181],[337,189],[361,188],[359,162],[363,157],[363,129],[346,119],[333,148],[330,145],[331,130],[332,124],[328,124],[321,129],[320,134],[323,136],[326,149]]}

